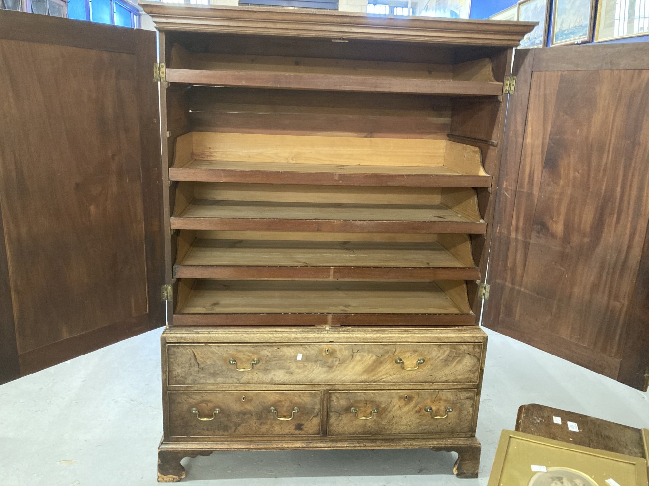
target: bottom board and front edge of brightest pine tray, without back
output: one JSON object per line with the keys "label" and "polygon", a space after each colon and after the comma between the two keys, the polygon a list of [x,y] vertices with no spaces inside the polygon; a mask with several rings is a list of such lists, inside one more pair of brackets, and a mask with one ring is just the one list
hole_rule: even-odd
{"label": "bottom board and front edge of brightest pine tray, without back", "polygon": [[334,165],[193,160],[169,169],[173,181],[336,184],[419,187],[491,187],[491,176],[445,166]]}

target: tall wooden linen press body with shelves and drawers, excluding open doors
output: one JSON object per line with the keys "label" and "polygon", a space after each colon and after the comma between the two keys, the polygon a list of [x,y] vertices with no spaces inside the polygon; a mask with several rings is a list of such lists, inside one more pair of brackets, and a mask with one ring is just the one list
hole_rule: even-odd
{"label": "tall wooden linen press body with shelves and drawers, excluding open doors", "polygon": [[531,25],[143,3],[173,318],[161,481],[215,450],[475,437],[504,119]]}

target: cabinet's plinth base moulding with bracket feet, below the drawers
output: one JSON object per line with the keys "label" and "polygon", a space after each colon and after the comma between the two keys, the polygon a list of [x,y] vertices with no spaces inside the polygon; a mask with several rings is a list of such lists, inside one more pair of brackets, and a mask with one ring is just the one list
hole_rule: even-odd
{"label": "cabinet's plinth base moulding with bracket feet, below the drawers", "polygon": [[307,441],[165,442],[158,448],[158,481],[173,483],[185,477],[180,464],[184,457],[209,456],[219,450],[328,450],[430,448],[434,452],[457,452],[453,472],[458,478],[477,478],[480,467],[480,442],[465,439],[347,439]]}

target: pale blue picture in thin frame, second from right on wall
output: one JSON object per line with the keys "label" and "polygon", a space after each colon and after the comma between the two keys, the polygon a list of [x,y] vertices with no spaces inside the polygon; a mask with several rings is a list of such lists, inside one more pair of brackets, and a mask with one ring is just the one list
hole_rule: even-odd
{"label": "pale blue picture in thin frame, second from right on wall", "polygon": [[551,45],[593,40],[594,0],[554,0]]}

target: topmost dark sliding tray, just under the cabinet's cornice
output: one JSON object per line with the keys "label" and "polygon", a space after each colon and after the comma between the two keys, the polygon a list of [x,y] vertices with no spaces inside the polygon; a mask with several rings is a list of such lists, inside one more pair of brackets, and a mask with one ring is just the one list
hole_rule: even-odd
{"label": "topmost dark sliding tray, just under the cabinet's cornice", "polygon": [[372,93],[500,96],[491,61],[461,64],[374,62],[190,52],[174,45],[166,66],[167,82]]}

